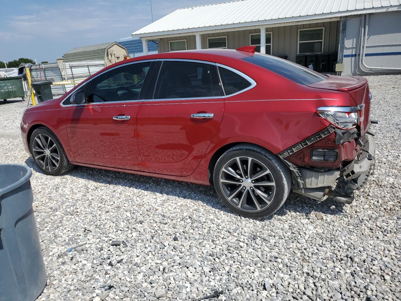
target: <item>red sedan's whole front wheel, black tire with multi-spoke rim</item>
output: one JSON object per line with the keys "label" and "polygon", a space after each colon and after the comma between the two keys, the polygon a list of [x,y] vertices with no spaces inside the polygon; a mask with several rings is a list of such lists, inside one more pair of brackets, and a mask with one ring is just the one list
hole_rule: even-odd
{"label": "red sedan's whole front wheel, black tire with multi-spoke rim", "polygon": [[74,167],[68,161],[60,140],[45,126],[33,131],[29,147],[36,165],[47,175],[61,175]]}

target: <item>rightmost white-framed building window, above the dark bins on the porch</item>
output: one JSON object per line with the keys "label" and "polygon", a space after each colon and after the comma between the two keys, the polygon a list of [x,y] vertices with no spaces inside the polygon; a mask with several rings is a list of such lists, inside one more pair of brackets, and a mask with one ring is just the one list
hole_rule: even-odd
{"label": "rightmost white-framed building window, above the dark bins on the porch", "polygon": [[298,31],[298,53],[322,52],[324,28],[300,29]]}

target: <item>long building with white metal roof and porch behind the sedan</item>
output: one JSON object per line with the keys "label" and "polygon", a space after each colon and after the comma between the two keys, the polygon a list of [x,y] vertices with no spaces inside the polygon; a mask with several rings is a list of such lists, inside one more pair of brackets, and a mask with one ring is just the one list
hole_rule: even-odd
{"label": "long building with white metal roof and porch behind the sedan", "polygon": [[401,0],[237,0],[180,8],[132,37],[144,53],[148,40],[159,52],[255,45],[322,72],[400,72]]}

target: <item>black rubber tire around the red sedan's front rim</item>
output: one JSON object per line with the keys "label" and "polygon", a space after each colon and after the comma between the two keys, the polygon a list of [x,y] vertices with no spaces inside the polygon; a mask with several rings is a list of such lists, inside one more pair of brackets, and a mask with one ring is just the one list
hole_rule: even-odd
{"label": "black rubber tire around the red sedan's front rim", "polygon": [[[37,137],[39,134],[44,134],[46,136],[49,136],[50,138],[53,139],[55,147],[57,148],[58,155],[59,155],[59,165],[57,168],[54,170],[46,170],[44,169],[39,161],[35,158],[34,151],[33,151],[33,145],[34,145],[34,139]],[[33,161],[35,161],[36,165],[47,175],[62,175],[63,173],[66,173],[67,171],[70,171],[73,169],[74,165],[72,165],[67,158],[67,155],[65,154],[64,148],[61,145],[61,142],[59,138],[53,133],[49,128],[46,126],[41,126],[40,128],[37,128],[36,130],[33,131],[32,135],[30,136],[30,142],[29,142],[29,150],[32,155]]]}

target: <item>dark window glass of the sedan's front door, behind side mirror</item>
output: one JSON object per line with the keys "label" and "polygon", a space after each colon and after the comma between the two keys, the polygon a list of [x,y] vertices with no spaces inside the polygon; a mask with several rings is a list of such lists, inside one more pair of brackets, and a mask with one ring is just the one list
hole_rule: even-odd
{"label": "dark window glass of the sedan's front door, behind side mirror", "polygon": [[89,87],[87,102],[138,100],[151,63],[124,65],[95,77]]}

